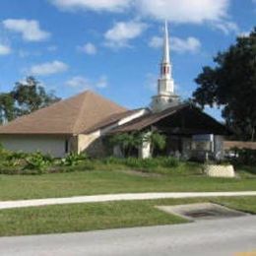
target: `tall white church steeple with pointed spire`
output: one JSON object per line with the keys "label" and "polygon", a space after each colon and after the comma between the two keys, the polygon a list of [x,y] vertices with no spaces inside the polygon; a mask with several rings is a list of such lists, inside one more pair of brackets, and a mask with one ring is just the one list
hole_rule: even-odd
{"label": "tall white church steeple with pointed spire", "polygon": [[169,57],[169,34],[168,25],[165,21],[162,59],[160,63],[160,79],[158,82],[158,96],[153,96],[153,111],[161,111],[179,102],[178,96],[174,95],[174,81],[172,79],[172,67]]}

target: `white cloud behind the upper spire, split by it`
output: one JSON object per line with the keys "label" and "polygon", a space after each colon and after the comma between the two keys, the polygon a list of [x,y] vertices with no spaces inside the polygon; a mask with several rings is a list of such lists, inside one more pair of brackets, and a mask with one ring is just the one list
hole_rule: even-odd
{"label": "white cloud behind the upper spire, split by it", "polygon": [[[149,45],[153,48],[160,48],[162,46],[162,37],[152,37]],[[193,36],[182,39],[179,37],[170,37],[170,49],[178,53],[198,52],[201,48],[201,42],[198,38]]]}

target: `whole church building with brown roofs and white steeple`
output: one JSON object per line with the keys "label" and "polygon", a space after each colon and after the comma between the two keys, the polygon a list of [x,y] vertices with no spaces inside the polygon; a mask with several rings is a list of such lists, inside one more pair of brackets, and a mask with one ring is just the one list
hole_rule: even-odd
{"label": "whole church building with brown roofs and white steeple", "polygon": [[[106,136],[156,130],[166,137],[167,156],[179,154],[187,159],[200,154],[222,159],[223,138],[229,134],[223,124],[175,95],[166,23],[158,94],[149,107],[129,110],[87,91],[1,126],[0,144],[11,151],[39,151],[56,158],[71,152],[102,157],[109,152]],[[120,152],[115,148],[112,154]],[[150,143],[144,142],[138,154],[150,158]]]}

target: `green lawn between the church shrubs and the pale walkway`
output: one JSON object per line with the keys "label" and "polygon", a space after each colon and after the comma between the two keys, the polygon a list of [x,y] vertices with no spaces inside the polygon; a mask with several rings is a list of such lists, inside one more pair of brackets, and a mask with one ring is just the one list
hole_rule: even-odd
{"label": "green lawn between the church shrubs and the pale walkway", "polygon": [[[148,175],[148,176],[147,176]],[[0,175],[0,200],[69,197],[79,195],[256,190],[256,175],[241,172],[240,178],[210,178],[195,171],[157,174],[87,170],[43,175]]]}

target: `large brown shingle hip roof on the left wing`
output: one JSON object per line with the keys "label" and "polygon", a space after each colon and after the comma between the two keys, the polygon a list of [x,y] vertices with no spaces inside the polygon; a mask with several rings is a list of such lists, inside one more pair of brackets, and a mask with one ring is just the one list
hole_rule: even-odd
{"label": "large brown shingle hip roof on the left wing", "polygon": [[0,134],[79,134],[127,109],[87,91],[0,127]]}

